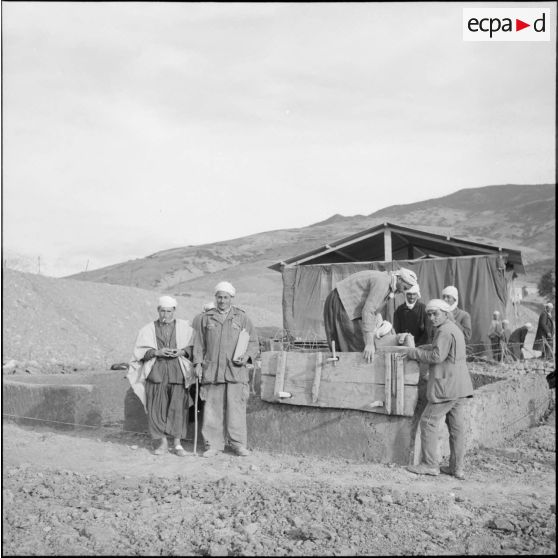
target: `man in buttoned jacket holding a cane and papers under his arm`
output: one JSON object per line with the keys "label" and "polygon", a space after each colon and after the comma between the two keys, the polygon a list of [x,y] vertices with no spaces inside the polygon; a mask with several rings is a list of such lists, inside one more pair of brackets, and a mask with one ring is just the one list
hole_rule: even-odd
{"label": "man in buttoned jacket holding a cane and papers under his arm", "polygon": [[222,452],[226,441],[237,455],[250,454],[246,447],[246,403],[250,395],[246,364],[255,360],[259,345],[244,310],[232,305],[235,294],[228,281],[218,283],[215,308],[203,312],[196,322],[194,366],[204,401],[204,457]]}

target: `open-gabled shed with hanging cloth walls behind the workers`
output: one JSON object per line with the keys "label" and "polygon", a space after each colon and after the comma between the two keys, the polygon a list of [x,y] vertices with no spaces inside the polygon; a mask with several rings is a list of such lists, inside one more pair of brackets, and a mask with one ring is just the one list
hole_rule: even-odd
{"label": "open-gabled shed with hanging cloth walls behind the workers", "polygon": [[[521,252],[393,223],[334,240],[277,262],[283,277],[283,327],[295,340],[325,340],[323,305],[336,283],[365,269],[412,269],[423,301],[439,298],[445,286],[459,292],[458,306],[471,315],[473,353],[484,353],[492,312],[511,317],[513,278],[524,273]],[[397,295],[384,318],[403,303]]]}

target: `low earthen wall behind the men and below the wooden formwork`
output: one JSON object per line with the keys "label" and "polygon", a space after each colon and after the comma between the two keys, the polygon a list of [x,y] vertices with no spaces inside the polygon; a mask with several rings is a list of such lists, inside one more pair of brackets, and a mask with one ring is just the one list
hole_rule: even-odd
{"label": "low earthen wall behind the men and below the wooden formwork", "polygon": [[[125,430],[145,432],[143,406],[124,375],[123,371],[110,371],[4,377],[2,413],[8,418],[53,421],[46,423],[53,428],[118,424]],[[468,403],[469,449],[501,444],[536,424],[548,408],[550,391],[543,374],[506,379],[485,374],[472,376],[476,389]],[[294,407],[267,403],[258,395],[251,395],[247,409],[248,445],[277,453],[339,456],[381,463],[417,462],[423,390],[424,386],[419,385],[420,399],[413,417]],[[255,392],[259,393],[258,377]],[[441,455],[447,455],[445,424],[441,425],[440,441]]]}

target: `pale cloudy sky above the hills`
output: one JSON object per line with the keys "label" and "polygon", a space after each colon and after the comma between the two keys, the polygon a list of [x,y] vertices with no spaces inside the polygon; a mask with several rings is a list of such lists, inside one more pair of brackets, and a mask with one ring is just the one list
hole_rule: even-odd
{"label": "pale cloudy sky above the hills", "polygon": [[4,259],[63,276],[554,183],[556,2],[550,41],[464,41],[496,5],[2,2]]}

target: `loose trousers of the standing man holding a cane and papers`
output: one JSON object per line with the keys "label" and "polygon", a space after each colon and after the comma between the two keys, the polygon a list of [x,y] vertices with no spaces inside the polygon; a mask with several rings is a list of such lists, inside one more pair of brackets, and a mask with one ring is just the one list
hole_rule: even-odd
{"label": "loose trousers of the standing man holding a cane and papers", "polygon": [[226,383],[202,386],[202,436],[206,449],[222,451],[225,441],[234,448],[246,447],[246,402],[248,384]]}

